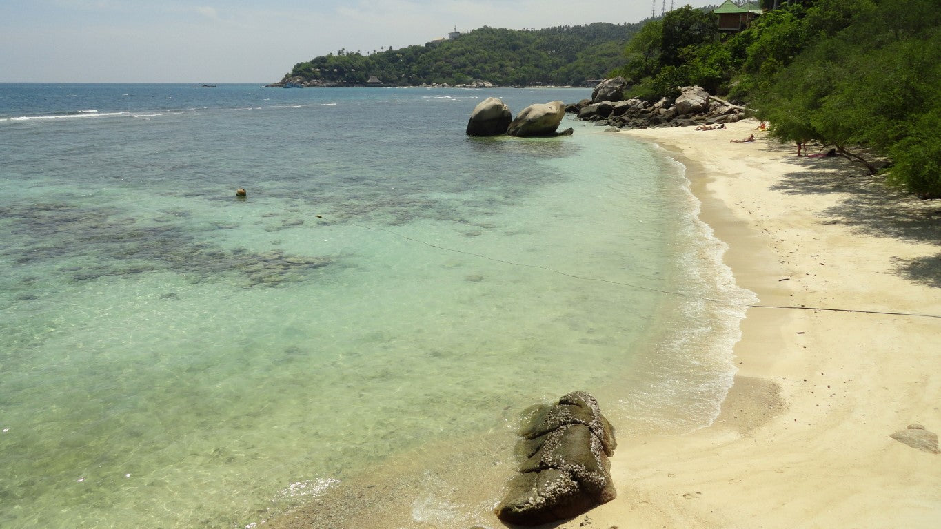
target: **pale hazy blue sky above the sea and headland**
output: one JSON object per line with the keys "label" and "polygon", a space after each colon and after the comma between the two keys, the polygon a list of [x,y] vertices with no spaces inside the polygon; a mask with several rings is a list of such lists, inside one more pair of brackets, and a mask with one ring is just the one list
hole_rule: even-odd
{"label": "pale hazy blue sky above the sea and headland", "polygon": [[271,83],[341,49],[424,44],[455,26],[634,23],[650,16],[651,2],[0,0],[0,83]]}

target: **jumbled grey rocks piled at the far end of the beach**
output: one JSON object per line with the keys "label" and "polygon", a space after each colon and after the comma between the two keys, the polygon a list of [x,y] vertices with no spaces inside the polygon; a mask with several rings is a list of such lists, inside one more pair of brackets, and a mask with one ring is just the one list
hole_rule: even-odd
{"label": "jumbled grey rocks piled at the far end of the beach", "polygon": [[617,129],[720,125],[734,123],[745,113],[744,107],[711,96],[700,86],[683,86],[676,100],[662,98],[655,103],[625,100],[629,87],[623,77],[605,79],[595,87],[592,99],[566,105],[566,112]]}

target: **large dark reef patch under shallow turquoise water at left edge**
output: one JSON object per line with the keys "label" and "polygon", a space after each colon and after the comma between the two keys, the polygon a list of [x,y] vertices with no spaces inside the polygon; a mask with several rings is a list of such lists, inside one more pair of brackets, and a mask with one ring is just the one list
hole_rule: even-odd
{"label": "large dark reef patch under shallow turquoise water at left edge", "polygon": [[[279,287],[304,281],[332,257],[305,257],[281,250],[252,252],[225,249],[200,241],[199,232],[179,223],[185,211],[138,220],[110,208],[40,203],[0,208],[8,237],[15,242],[0,250],[17,265],[61,260],[56,270],[72,281],[145,272],[175,272],[192,283],[225,281],[244,288]],[[168,218],[167,218],[168,217]],[[296,226],[289,221],[283,226]],[[229,229],[233,225],[218,225]],[[68,264],[65,264],[68,263]]]}

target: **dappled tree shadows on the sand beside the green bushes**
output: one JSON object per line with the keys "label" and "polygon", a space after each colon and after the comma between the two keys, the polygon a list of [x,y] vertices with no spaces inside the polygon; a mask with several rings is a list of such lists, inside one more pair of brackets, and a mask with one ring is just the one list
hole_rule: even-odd
{"label": "dappled tree shadows on the sand beside the green bushes", "polygon": [[[793,147],[781,145],[769,145],[767,150],[788,153],[787,163],[795,168],[772,189],[786,194],[841,195],[835,206],[821,211],[824,224],[850,226],[873,237],[941,246],[941,200],[919,200],[845,158],[798,158]],[[941,253],[896,261],[896,272],[903,277],[941,288]]]}

